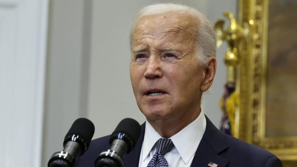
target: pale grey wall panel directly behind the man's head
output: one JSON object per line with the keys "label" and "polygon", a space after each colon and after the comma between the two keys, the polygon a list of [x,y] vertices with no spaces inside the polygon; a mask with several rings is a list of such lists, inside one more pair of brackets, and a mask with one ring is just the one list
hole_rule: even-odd
{"label": "pale grey wall panel directly behind the man's head", "polygon": [[[154,2],[173,1],[94,1],[91,38],[91,63],[88,118],[96,127],[94,137],[109,135],[118,122],[127,117],[140,123],[145,121],[138,109],[129,77],[130,24],[142,6]],[[225,10],[236,11],[236,0],[185,0],[184,4],[203,12],[212,22],[222,17]],[[226,45],[217,53],[217,74],[202,108],[218,127],[221,112],[218,102],[223,94],[226,68],[223,55]]]}

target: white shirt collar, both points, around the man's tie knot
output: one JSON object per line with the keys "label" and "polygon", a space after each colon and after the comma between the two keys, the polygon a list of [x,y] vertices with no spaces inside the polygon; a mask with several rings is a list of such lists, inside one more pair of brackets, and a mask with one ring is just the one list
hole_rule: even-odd
{"label": "white shirt collar, both points, around the man's tie knot", "polygon": [[[205,128],[206,119],[201,109],[199,116],[193,122],[184,127],[177,134],[170,137],[185,164],[187,164],[191,160],[192,156],[194,156],[204,134]],[[153,126],[151,126],[148,121],[146,121],[142,161],[144,161],[147,156],[149,156],[153,146],[160,138],[162,137],[159,135],[159,133],[155,131]]]}

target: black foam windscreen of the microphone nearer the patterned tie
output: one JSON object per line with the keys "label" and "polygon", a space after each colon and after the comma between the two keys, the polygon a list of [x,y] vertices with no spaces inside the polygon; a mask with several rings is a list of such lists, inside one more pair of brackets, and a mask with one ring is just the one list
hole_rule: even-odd
{"label": "black foam windscreen of the microphone nearer the patterned tie", "polygon": [[120,123],[118,123],[118,126],[115,128],[111,136],[117,133],[126,133],[133,141],[132,147],[134,148],[140,136],[140,132],[140,124],[136,120],[132,118],[125,118]]}

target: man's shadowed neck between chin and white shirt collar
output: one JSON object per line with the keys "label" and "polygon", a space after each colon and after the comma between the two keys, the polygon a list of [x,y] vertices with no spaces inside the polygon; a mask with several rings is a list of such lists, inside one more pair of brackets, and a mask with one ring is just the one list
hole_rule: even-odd
{"label": "man's shadowed neck between chin and white shirt collar", "polygon": [[193,114],[189,114],[188,117],[181,117],[176,120],[150,120],[147,118],[147,121],[163,138],[170,138],[192,123],[199,116],[200,110],[199,108]]}

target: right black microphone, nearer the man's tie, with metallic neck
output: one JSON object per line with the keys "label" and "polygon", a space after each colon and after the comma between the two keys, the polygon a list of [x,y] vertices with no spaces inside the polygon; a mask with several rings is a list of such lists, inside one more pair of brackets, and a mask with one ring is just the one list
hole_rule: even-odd
{"label": "right black microphone, nearer the man's tie, with metallic neck", "polygon": [[110,135],[110,149],[97,157],[95,167],[124,167],[124,156],[135,147],[140,125],[132,118],[123,119]]}

